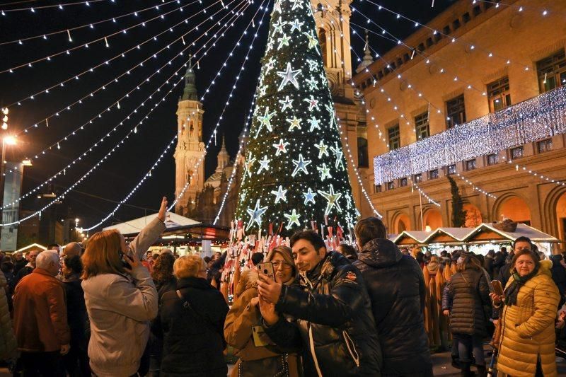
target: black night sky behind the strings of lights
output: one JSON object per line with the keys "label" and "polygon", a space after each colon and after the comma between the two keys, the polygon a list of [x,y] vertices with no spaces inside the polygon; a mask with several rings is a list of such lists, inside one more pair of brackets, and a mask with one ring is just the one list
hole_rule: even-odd
{"label": "black night sky behind the strings of lights", "polygon": [[[13,73],[0,73],[0,105],[1,107],[10,105],[7,133],[18,134],[18,145],[7,147],[6,159],[8,161],[19,161],[26,156],[33,158],[48,146],[55,144],[50,150],[45,151],[45,154],[40,154],[39,158],[33,160],[32,167],[25,168],[22,194],[45,182],[51,175],[81,156],[96,141],[99,141],[111,129],[120,124],[130,112],[144,103],[144,106],[134,112],[129,120],[125,120],[115,132],[112,132],[110,137],[104,139],[86,157],[81,158],[81,161],[77,161],[71,168],[67,169],[65,175],[61,175],[53,181],[55,192],[64,192],[67,187],[106,156],[112,147],[144,119],[146,114],[154,107],[154,104],[159,101],[158,107],[148,115],[148,119],[145,119],[143,124],[137,127],[137,133],[126,139],[120,149],[117,149],[112,153],[112,156],[100,163],[100,166],[64,199],[64,203],[71,207],[71,216],[81,219],[80,226],[91,226],[107,216],[116,206],[115,202],[122,200],[137,185],[137,182],[149,170],[175,135],[177,130],[175,112],[178,99],[183,93],[183,83],[181,82],[173,88],[173,84],[181,78],[181,75],[173,76],[168,84],[165,81],[179,69],[180,74],[184,74],[186,68],[183,67],[183,64],[188,62],[190,54],[195,54],[193,64],[196,64],[195,61],[199,60],[200,66],[200,69],[196,69],[197,87],[199,94],[203,95],[260,4],[265,6],[265,4],[271,2],[265,0],[262,3],[261,0],[253,0],[253,4],[248,4],[248,0],[223,1],[230,9],[241,9],[247,6],[244,15],[237,19],[232,14],[226,16],[228,13],[226,13],[226,10],[221,10],[219,2],[206,0],[180,0],[179,2],[169,0],[103,0],[91,1],[88,6],[86,4],[64,6],[63,10],[58,7],[45,9],[39,7],[65,4],[64,1],[13,1],[9,4],[7,4],[8,1],[2,2],[1,10],[34,6],[35,12],[30,10],[6,11],[6,16],[0,16],[0,43],[17,41],[59,30],[64,30],[64,33],[48,36],[47,40],[40,37],[23,41],[22,45],[18,42],[1,44],[0,71],[52,56],[85,43],[89,44],[88,48],[76,48],[70,54],[64,53],[52,57],[50,61],[36,62],[32,64],[32,67],[24,66],[20,69],[13,69]],[[67,1],[67,3],[71,2],[76,1]],[[429,0],[373,0],[373,2],[400,12],[420,23],[426,23],[447,6],[453,4],[454,0],[437,0],[434,8],[431,8],[431,1]],[[325,4],[324,1],[322,3]],[[156,6],[158,6],[158,9],[156,9]],[[410,21],[403,20],[403,18],[398,20],[391,13],[383,10],[378,11],[377,7],[368,1],[354,0],[352,6],[400,38],[407,37],[415,30],[414,24]],[[180,7],[183,7],[183,11],[179,10]],[[204,7],[208,7],[206,14],[200,12]],[[146,8],[149,9],[142,11]],[[136,11],[137,16],[132,14],[117,18]],[[161,18],[164,13],[168,14]],[[216,13],[216,16],[214,16],[215,23],[213,24],[209,17],[214,13]],[[253,91],[260,71],[260,58],[265,49],[270,13],[265,14],[262,25],[259,25],[258,21],[263,14],[263,11],[257,13],[253,23],[255,28],[253,28],[253,25],[250,26],[247,35],[243,35],[240,46],[234,50],[233,56],[226,62],[226,66],[221,71],[221,76],[216,77],[214,85],[210,87],[209,93],[206,93],[203,101],[203,107],[206,111],[204,114],[204,142],[206,143],[209,139],[214,125],[220,122],[218,134],[226,134],[226,146],[231,156],[234,156],[238,150],[238,135],[243,129],[243,124],[250,110]],[[115,18],[115,22],[112,22],[112,18]],[[153,18],[156,19],[149,21]],[[184,21],[187,18],[190,19],[188,23],[185,23]],[[223,18],[222,21],[220,21],[221,18]],[[93,25],[93,28],[71,30],[72,42],[69,42],[67,29],[107,19],[110,19],[110,21]],[[224,25],[227,20],[233,20],[233,27],[228,30],[216,24],[220,21]],[[146,25],[139,25],[127,30],[127,33],[122,33],[122,30],[142,22],[145,22]],[[353,13],[352,22],[358,25],[366,25],[365,18],[357,12]],[[178,23],[179,25],[174,27]],[[202,25],[199,26],[198,30],[193,30],[200,23]],[[173,28],[173,32],[169,28]],[[376,25],[370,25],[369,28],[379,32]],[[220,33],[217,33],[217,37],[214,38],[214,33],[220,29],[225,32],[224,37],[220,37]],[[202,35],[207,30],[209,30],[208,36]],[[361,35],[364,33],[357,27],[354,27],[354,30],[357,30],[357,33]],[[98,40],[112,33],[117,34],[107,38],[109,47],[105,46],[105,40]],[[153,40],[154,35],[158,33],[163,34],[159,35],[157,40]],[[185,33],[188,34],[185,35]],[[226,108],[222,120],[219,120],[236,76],[243,66],[244,57],[248,52],[254,33],[257,33],[258,37],[246,62],[245,70],[240,73],[237,88],[233,91],[233,100]],[[183,39],[186,45],[183,45],[182,40],[178,40],[181,35],[184,35]],[[199,37],[200,39],[192,46],[192,42]],[[92,42],[93,40],[98,40],[98,42]],[[145,40],[149,40],[149,42],[137,49],[137,45]],[[175,40],[178,41],[175,42]],[[201,48],[204,42],[206,42],[206,49]],[[213,42],[216,45],[215,47],[212,46]],[[380,54],[384,54],[395,45],[395,43],[378,35],[370,35],[370,44]],[[169,45],[169,48],[167,48],[167,45]],[[363,56],[362,39],[352,35],[352,45],[355,52],[359,56]],[[163,47],[165,47],[165,50],[158,52]],[[132,48],[131,52],[126,52]],[[183,56],[178,56],[182,50],[185,50]],[[203,56],[204,51],[207,51],[206,56]],[[120,55],[122,52],[125,52],[125,57]],[[156,57],[153,57],[154,54],[156,54]],[[115,56],[118,56],[117,59],[105,64],[107,60]],[[137,66],[148,57],[149,60],[143,66]],[[168,64],[169,61],[171,61],[171,64]],[[102,66],[93,69],[93,72],[88,71],[98,64],[102,64]],[[163,66],[164,64],[165,66]],[[354,69],[357,64],[357,57],[352,54]],[[134,66],[137,67],[133,68]],[[162,69],[161,66],[163,66]],[[157,69],[160,69],[160,72],[154,74]],[[128,70],[130,74],[125,74]],[[78,80],[72,79],[83,71],[88,72],[79,76]],[[125,76],[118,79],[117,83],[108,83],[122,74],[125,74]],[[151,76],[149,82],[144,81],[151,74],[154,74],[154,76]],[[65,83],[64,87],[57,86],[50,89],[48,94],[42,93],[35,95],[33,100],[23,100],[69,78],[72,80]],[[142,81],[144,81],[143,85],[141,84]],[[106,83],[108,85],[105,85]],[[165,86],[161,88],[161,91],[152,95],[153,98],[148,100],[149,95],[163,83],[165,83]],[[105,89],[98,91],[93,97],[85,98],[81,104],[71,105],[103,85],[105,85]],[[139,90],[136,89],[137,86],[139,86]],[[168,93],[171,88],[173,88],[173,93]],[[117,109],[116,101],[132,90],[134,92],[128,98],[120,100],[120,109]],[[166,100],[160,101],[163,95],[167,93]],[[18,100],[21,100],[21,105],[17,105]],[[15,104],[11,105],[12,103]],[[66,109],[68,105],[71,106],[71,110],[59,111]],[[110,111],[107,111],[111,105]],[[59,116],[51,117],[49,127],[46,127],[45,118],[58,111]],[[102,117],[98,117],[100,112],[103,112]],[[96,118],[90,124],[89,120],[93,117]],[[36,123],[37,128],[33,127],[33,124]],[[71,135],[67,140],[60,141],[59,148],[57,148],[59,139],[83,124],[82,130],[76,132],[74,136]],[[27,133],[23,132],[28,127],[32,128]],[[209,149],[205,166],[207,175],[211,174],[216,167],[216,153],[220,149],[220,144],[221,137],[219,136],[216,146],[213,142],[212,148]],[[162,195],[169,197],[170,203],[172,202],[175,191],[173,151],[174,149],[169,150],[158,165],[157,170],[154,170],[151,178],[146,180],[144,185],[128,200],[127,204],[136,207],[122,206],[113,218],[105,222],[104,226],[108,226],[112,222],[126,221],[151,214],[158,209]],[[45,187],[43,187],[42,192],[45,191]],[[36,195],[30,195],[23,199],[22,207],[23,209],[37,210],[45,204],[47,204],[45,199],[37,199]]]}

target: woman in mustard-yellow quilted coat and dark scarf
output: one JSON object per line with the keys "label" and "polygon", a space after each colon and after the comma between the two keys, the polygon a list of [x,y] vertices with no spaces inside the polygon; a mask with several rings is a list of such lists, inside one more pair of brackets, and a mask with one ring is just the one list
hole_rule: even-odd
{"label": "woman in mustard-yellow quilted coat and dark scarf", "polygon": [[503,305],[498,376],[558,376],[554,320],[560,294],[550,274],[552,262],[539,262],[524,249],[515,253],[512,266],[504,295],[490,294],[495,306]]}

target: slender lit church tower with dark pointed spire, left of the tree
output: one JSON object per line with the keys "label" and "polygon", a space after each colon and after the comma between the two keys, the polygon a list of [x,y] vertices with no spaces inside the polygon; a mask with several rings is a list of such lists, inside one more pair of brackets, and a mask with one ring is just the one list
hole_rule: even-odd
{"label": "slender lit church tower with dark pointed spire, left of the tree", "polygon": [[192,63],[185,73],[185,89],[177,106],[178,139],[175,149],[175,197],[179,197],[183,187],[189,182],[183,197],[175,205],[175,213],[185,215],[195,207],[195,198],[204,187],[204,159],[197,167],[200,158],[204,157],[202,142],[202,103],[200,103],[195,71]]}

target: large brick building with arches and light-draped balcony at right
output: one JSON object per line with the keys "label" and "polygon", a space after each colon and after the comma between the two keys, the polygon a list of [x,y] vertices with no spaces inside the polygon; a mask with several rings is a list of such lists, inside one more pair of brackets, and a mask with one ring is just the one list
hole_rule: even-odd
{"label": "large brick building with arches and light-draped balcony at right", "polygon": [[451,226],[451,175],[467,226],[504,216],[566,238],[566,2],[506,4],[456,1],[354,76],[389,233]]}

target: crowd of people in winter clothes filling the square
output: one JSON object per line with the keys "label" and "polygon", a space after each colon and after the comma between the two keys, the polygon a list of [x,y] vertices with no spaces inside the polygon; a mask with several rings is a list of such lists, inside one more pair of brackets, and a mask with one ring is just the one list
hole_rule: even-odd
{"label": "crowd of people in winter clothes filling the square", "polygon": [[566,262],[528,238],[483,257],[399,249],[375,217],[337,250],[299,231],[250,253],[229,306],[226,253],[148,252],[166,205],[129,244],[110,230],[84,249],[0,255],[0,360],[14,376],[224,377],[230,346],[232,376],[427,377],[431,349],[450,345],[463,376],[485,376],[488,340],[500,376],[557,376]]}

